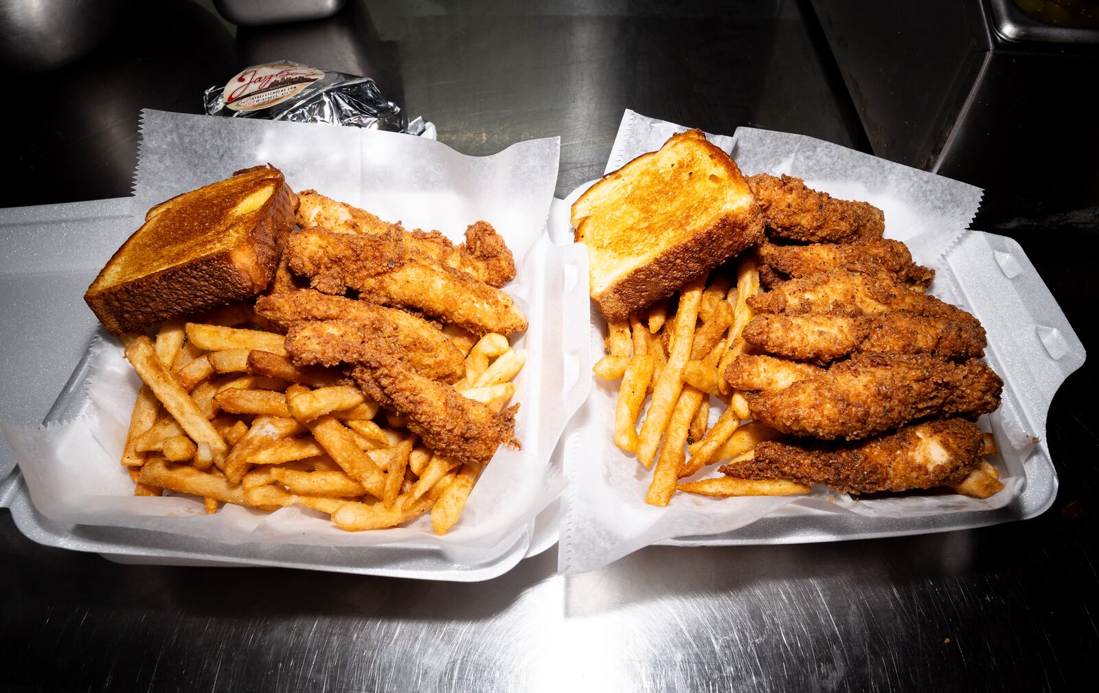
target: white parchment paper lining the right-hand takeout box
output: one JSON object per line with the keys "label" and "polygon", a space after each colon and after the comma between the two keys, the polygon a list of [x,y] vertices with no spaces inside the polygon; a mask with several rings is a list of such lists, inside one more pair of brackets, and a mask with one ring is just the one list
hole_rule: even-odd
{"label": "white parchment paper lining the right-hand takeout box", "polygon": [[[626,161],[658,149],[687,127],[626,111],[607,165],[615,170]],[[892,164],[812,137],[741,127],[733,137],[707,135],[732,154],[745,176],[789,174],[837,198],[866,200],[885,212],[886,236],[903,241],[913,258],[939,272],[932,293],[956,301],[950,291],[950,268],[943,254],[965,233],[980,203],[978,188]],[[555,243],[571,241],[568,208],[581,187],[551,214]],[[944,281],[945,280],[945,281]],[[980,317],[980,315],[978,315]],[[602,355],[607,324],[592,311],[587,335],[592,358]],[[1002,373],[1001,373],[1002,375]],[[565,470],[569,488],[562,499],[559,567],[582,572],[609,563],[651,544],[674,537],[721,535],[744,527],[779,508],[784,513],[851,513],[876,517],[918,517],[940,513],[1002,507],[1024,482],[1025,450],[993,458],[1004,489],[989,499],[956,494],[911,495],[855,500],[819,485],[810,496],[711,499],[676,493],[667,507],[645,503],[653,472],[613,443],[614,403],[619,382],[597,380],[588,401],[565,433]],[[1010,396],[1006,392],[1006,396]],[[712,401],[711,422],[724,405]],[[1046,403],[1047,406],[1047,403]],[[1003,437],[998,417],[983,417],[986,431]],[[1001,446],[1002,447],[1002,446]],[[714,467],[691,479],[718,476]]]}

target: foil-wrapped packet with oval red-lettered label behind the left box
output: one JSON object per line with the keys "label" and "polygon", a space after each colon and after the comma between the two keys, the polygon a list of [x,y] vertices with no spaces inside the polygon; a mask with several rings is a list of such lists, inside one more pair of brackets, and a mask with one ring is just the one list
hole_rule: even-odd
{"label": "foil-wrapped packet with oval red-lettered label behind the left box", "polygon": [[241,70],[224,86],[207,89],[204,104],[207,114],[225,118],[349,125],[432,139],[435,133],[434,125],[423,119],[410,123],[369,77],[329,72],[290,60]]}

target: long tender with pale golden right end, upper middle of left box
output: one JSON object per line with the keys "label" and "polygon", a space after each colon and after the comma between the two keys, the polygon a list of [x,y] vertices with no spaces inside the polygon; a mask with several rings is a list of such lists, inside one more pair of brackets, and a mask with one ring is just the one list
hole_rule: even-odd
{"label": "long tender with pale golden right end, upper middle of left box", "polygon": [[349,287],[363,300],[422,311],[477,335],[526,329],[526,316],[511,297],[452,267],[420,259],[393,230],[378,235],[297,231],[285,253],[290,269],[324,293],[341,294]]}

